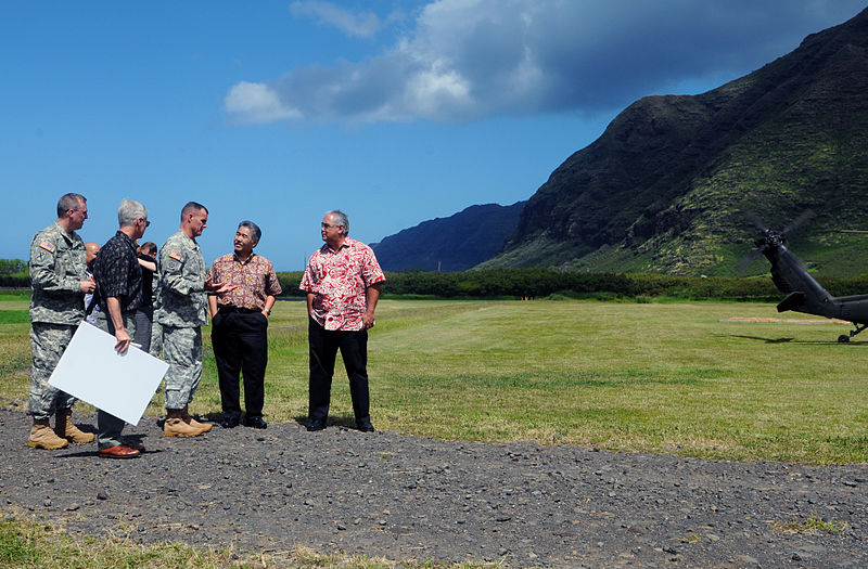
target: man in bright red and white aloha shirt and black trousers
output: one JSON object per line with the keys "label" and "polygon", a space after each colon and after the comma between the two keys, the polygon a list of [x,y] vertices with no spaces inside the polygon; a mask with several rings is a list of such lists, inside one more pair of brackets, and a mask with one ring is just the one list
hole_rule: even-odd
{"label": "man in bright red and white aloha shirt and black trousers", "polygon": [[368,328],[385,276],[373,250],[349,238],[349,220],[340,210],[326,214],[320,247],[307,262],[298,288],[307,293],[310,380],[307,430],[322,430],[329,416],[337,350],[349,378],[356,426],[372,432],[368,396]]}

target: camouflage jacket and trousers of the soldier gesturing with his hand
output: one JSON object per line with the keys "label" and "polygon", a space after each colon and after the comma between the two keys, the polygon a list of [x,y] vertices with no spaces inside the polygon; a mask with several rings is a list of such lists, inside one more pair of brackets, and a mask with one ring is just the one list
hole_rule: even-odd
{"label": "camouflage jacket and trousers of the soldier gesturing with his hand", "polygon": [[193,401],[202,379],[202,331],[208,323],[205,259],[199,244],[179,231],[163,244],[157,261],[154,321],[163,327],[166,409],[180,410]]}

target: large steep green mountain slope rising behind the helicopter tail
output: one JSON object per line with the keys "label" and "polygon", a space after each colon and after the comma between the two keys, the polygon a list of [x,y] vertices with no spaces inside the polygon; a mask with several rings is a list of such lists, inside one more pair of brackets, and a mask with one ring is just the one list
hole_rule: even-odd
{"label": "large steep green mountain slope rising behind the helicopter tail", "polygon": [[[566,159],[481,267],[732,274],[756,230],[816,217],[791,248],[819,273],[865,273],[868,10],[713,91],[648,96]],[[749,272],[762,273],[758,260]]]}

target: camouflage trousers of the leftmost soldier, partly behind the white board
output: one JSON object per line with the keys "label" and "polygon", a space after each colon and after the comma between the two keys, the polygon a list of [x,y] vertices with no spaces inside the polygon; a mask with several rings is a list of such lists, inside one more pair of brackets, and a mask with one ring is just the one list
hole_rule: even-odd
{"label": "camouflage trousers of the leftmost soldier, partly behind the white board", "polygon": [[49,418],[58,411],[73,406],[76,399],[65,391],[48,385],[51,373],[73,339],[78,326],[34,322],[30,327],[30,348],[34,364],[30,371],[30,397],[27,414],[37,421]]}

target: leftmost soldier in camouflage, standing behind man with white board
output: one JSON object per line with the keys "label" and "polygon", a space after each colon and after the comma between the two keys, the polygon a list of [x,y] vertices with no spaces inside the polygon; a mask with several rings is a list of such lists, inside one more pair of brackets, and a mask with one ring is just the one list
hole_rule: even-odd
{"label": "leftmost soldier in camouflage, standing behind man with white board", "polygon": [[[85,318],[85,294],[95,283],[87,275],[85,244],[76,230],[88,218],[87,199],[65,194],[58,202],[58,220],[30,243],[30,345],[33,371],[27,414],[34,427],[27,444],[34,449],[63,449],[69,442],[90,442],[72,422],[75,398],[48,384],[54,367]],[[49,419],[55,415],[54,430]]]}

